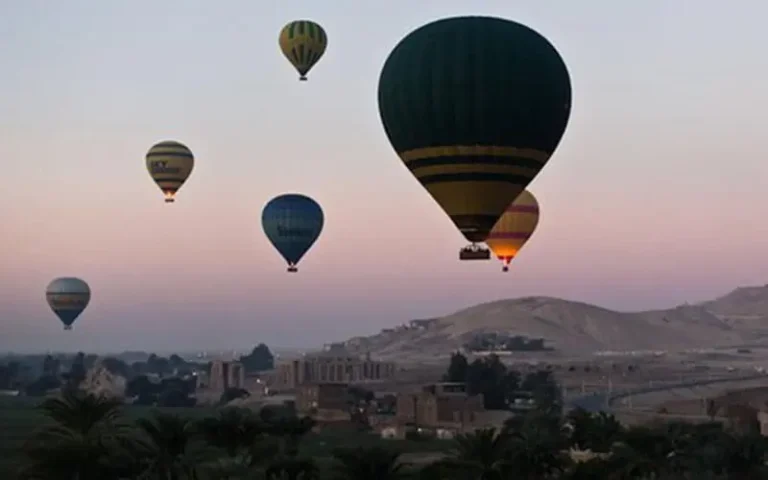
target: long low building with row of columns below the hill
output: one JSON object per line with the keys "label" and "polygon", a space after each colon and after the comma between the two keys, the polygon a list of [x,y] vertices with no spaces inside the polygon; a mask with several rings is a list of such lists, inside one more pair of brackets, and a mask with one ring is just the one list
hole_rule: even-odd
{"label": "long low building with row of columns below the hill", "polygon": [[378,362],[348,352],[343,344],[331,344],[314,354],[277,364],[274,388],[295,389],[314,383],[365,383],[395,377],[393,362]]}

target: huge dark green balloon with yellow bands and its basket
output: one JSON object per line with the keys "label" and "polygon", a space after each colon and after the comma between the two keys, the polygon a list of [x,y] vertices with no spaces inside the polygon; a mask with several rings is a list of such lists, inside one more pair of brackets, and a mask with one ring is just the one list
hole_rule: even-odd
{"label": "huge dark green balloon with yellow bands and its basket", "polygon": [[565,132],[571,81],[555,48],[516,22],[438,20],[408,34],[379,78],[392,146],[472,245],[549,160]]}

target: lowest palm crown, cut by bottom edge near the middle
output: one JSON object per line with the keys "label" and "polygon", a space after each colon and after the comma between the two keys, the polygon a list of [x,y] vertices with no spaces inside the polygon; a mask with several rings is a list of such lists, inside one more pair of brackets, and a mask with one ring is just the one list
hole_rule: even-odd
{"label": "lowest palm crown, cut by bottom edge near the middle", "polygon": [[399,480],[403,478],[400,452],[382,447],[340,448],[333,452],[339,480]]}

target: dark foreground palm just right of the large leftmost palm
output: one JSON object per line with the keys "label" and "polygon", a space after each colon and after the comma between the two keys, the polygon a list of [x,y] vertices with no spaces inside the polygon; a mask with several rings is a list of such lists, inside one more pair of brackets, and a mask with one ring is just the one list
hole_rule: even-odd
{"label": "dark foreground palm just right of the large leftmost palm", "polygon": [[146,474],[157,480],[180,480],[193,475],[195,463],[205,452],[193,452],[194,424],[177,415],[156,413],[152,418],[136,421],[147,439],[143,443],[142,458],[147,464]]}

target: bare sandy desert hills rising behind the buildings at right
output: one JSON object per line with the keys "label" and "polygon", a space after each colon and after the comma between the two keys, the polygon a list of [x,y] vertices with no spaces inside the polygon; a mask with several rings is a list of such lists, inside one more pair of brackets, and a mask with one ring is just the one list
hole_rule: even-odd
{"label": "bare sandy desert hills rising behind the buildings at right", "polygon": [[477,334],[543,338],[563,354],[600,350],[684,350],[754,343],[768,334],[768,286],[667,310],[617,312],[551,297],[483,303],[451,315],[415,320],[344,342],[355,353],[428,360],[460,348]]}

